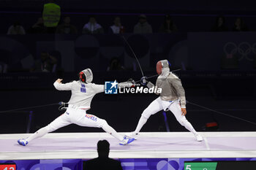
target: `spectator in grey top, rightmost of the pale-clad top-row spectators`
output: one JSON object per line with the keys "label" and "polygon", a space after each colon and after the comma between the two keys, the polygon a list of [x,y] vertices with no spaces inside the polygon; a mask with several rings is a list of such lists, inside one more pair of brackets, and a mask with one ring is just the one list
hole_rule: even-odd
{"label": "spectator in grey top, rightmost of the pale-clad top-row spectators", "polygon": [[152,27],[148,24],[146,15],[139,16],[139,22],[135,25],[133,29],[133,33],[135,34],[148,34],[152,33]]}

